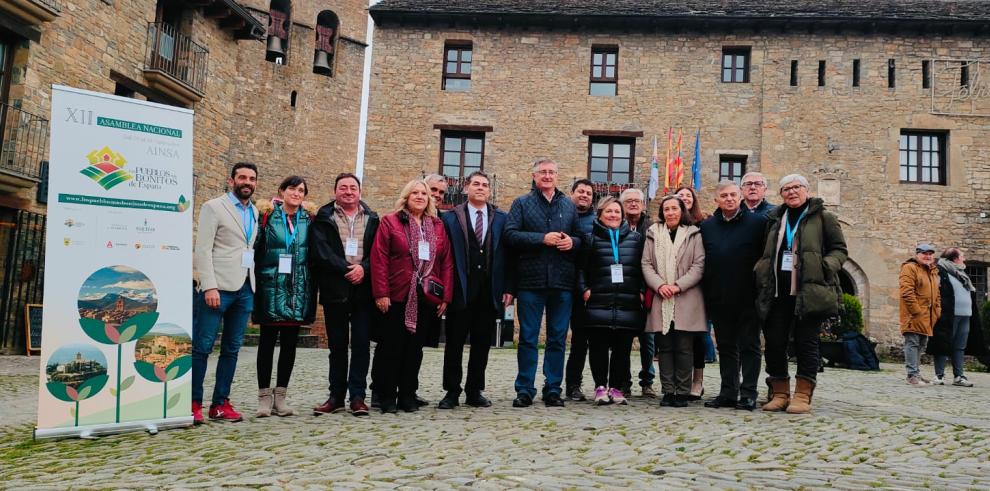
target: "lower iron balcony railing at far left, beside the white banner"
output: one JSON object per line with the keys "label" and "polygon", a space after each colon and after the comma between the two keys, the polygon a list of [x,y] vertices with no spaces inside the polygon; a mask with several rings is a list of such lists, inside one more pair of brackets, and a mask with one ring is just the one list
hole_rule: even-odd
{"label": "lower iron balcony railing at far left, beside the white banner", "polygon": [[48,152],[48,120],[0,103],[0,124],[0,170],[39,179]]}

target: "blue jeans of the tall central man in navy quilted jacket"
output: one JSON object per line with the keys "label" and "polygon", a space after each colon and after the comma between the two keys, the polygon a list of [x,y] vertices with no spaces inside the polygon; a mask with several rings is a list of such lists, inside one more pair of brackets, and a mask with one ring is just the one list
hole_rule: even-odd
{"label": "blue jeans of the tall central man in navy quilted jacket", "polygon": [[567,324],[571,317],[573,294],[569,290],[520,290],[517,296],[519,309],[519,350],[516,361],[516,394],[536,397],[536,365],[540,361],[538,343],[543,310],[547,312],[547,340],[543,353],[543,397],[560,395],[564,378],[564,345],[567,341]]}

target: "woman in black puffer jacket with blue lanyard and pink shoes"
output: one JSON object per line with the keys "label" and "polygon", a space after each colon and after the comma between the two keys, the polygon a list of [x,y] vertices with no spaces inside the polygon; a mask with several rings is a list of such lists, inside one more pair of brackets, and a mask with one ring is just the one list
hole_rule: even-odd
{"label": "woman in black puffer jacket with blue lanyard and pink shoes", "polygon": [[[632,340],[643,330],[643,236],[629,229],[619,201],[598,202],[598,219],[584,237],[578,283],[585,304],[595,404],[626,404]],[[611,358],[609,357],[611,352]]]}

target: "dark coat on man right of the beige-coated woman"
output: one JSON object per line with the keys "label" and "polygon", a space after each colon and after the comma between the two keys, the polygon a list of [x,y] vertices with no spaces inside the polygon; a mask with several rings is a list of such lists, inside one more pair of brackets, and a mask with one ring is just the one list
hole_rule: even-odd
{"label": "dark coat on man right of the beige-coated woman", "polygon": [[722,210],[701,222],[705,245],[705,308],[751,306],[756,300],[753,266],[763,252],[767,218],[759,213],[736,212],[732,220]]}

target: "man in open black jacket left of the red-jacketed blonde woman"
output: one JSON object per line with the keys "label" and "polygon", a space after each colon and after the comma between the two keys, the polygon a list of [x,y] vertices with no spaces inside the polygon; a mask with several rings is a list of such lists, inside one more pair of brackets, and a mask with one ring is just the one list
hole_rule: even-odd
{"label": "man in open black jacket left of the red-jacketed blonde woman", "polygon": [[310,244],[330,347],[330,397],[313,408],[313,414],[344,410],[344,396],[350,392],[351,414],[367,416],[364,398],[370,362],[371,246],[379,220],[361,201],[361,181],[354,174],[338,175],[334,194],[334,201],[316,214]]}

